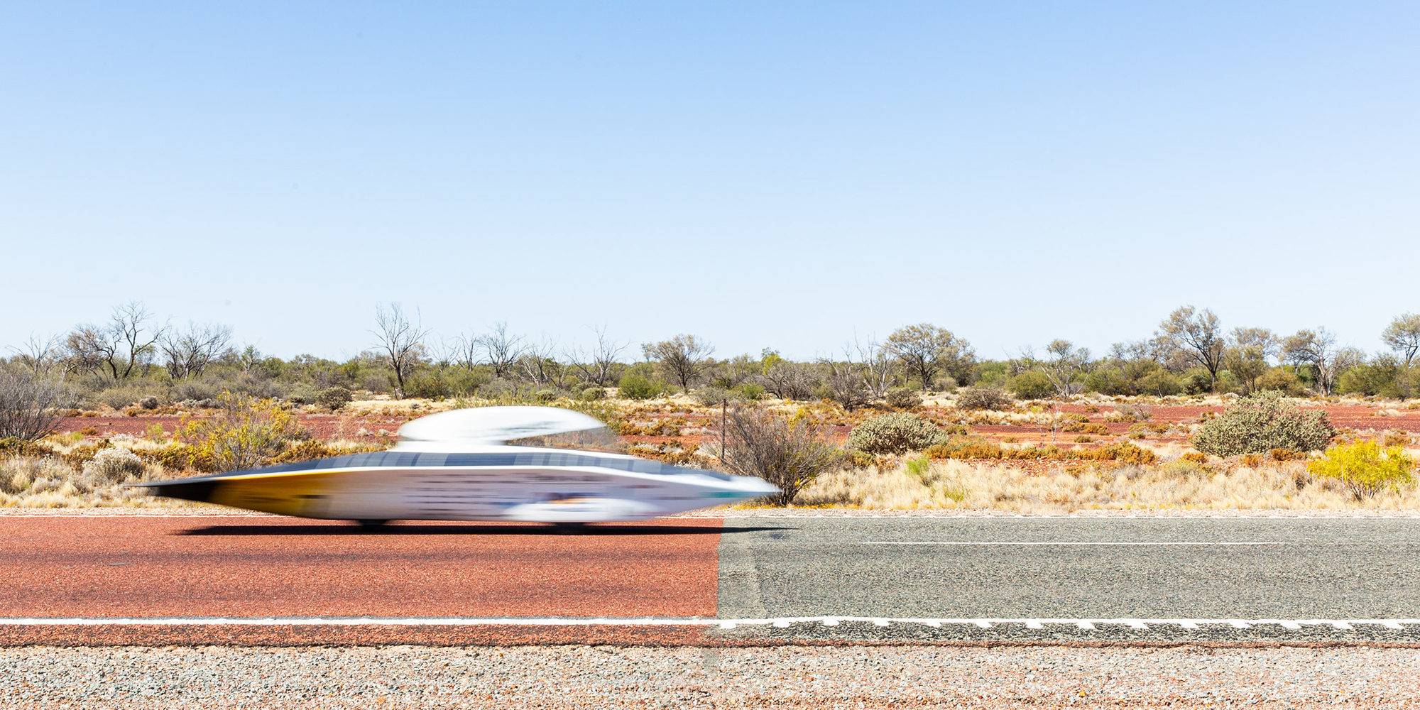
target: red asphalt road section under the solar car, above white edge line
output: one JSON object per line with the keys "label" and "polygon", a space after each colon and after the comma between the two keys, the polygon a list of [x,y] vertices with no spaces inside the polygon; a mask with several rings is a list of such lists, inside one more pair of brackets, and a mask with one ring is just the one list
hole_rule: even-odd
{"label": "red asphalt road section under the solar car, above white edge line", "polygon": [[0,517],[0,616],[714,616],[719,520]]}

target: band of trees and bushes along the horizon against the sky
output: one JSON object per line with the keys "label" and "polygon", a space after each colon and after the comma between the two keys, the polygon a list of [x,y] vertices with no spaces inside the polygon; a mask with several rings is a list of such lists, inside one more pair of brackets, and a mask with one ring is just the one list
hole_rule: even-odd
{"label": "band of trees and bushes along the horizon against the sky", "polygon": [[[853,409],[892,388],[994,388],[1018,398],[1179,395],[1281,390],[1289,395],[1410,398],[1420,392],[1420,315],[1397,315],[1380,334],[1386,349],[1342,346],[1325,328],[1277,334],[1225,328],[1211,310],[1184,305],[1152,335],[1095,355],[1068,339],[1021,348],[1004,359],[978,358],[971,344],[934,324],[905,325],[886,338],[843,344],[809,361],[771,348],[716,358],[704,338],[679,334],[632,344],[594,327],[582,344],[530,338],[506,322],[439,337],[417,311],[375,308],[366,348],[346,361],[314,355],[283,359],[239,344],[222,324],[173,325],[141,302],[115,307],[98,324],[10,346],[0,364],[7,382],[54,382],[77,398],[126,406],[139,396],[207,400],[223,390],[314,400],[329,388],[388,392],[395,398],[494,395],[601,396],[694,392],[704,400],[829,399]],[[20,378],[20,379],[17,379]],[[17,386],[17,385],[16,385]],[[126,402],[125,402],[126,399]]]}

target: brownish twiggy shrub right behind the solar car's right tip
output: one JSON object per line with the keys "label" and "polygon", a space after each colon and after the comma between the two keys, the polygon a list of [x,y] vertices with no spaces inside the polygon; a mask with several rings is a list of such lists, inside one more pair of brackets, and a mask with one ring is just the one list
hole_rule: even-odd
{"label": "brownish twiggy shrub right behind the solar car's right tip", "polygon": [[758,476],[780,493],[765,500],[787,506],[819,473],[836,466],[842,453],[805,420],[790,422],[758,408],[734,408],[726,422],[721,462],[741,476]]}

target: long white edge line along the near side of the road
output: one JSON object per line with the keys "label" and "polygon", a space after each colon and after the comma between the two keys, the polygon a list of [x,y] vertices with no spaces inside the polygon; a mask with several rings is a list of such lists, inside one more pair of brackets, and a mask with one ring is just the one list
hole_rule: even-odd
{"label": "long white edge line along the near side of the road", "polygon": [[674,616],[124,616],[124,618],[0,618],[4,626],[775,626],[788,628],[794,623],[816,623],[828,628],[845,622],[872,623],[875,626],[920,625],[941,628],[947,625],[993,629],[995,625],[1014,623],[1028,629],[1044,629],[1047,625],[1072,625],[1083,630],[1098,630],[1100,625],[1150,629],[1174,626],[1179,629],[1201,629],[1204,626],[1228,626],[1252,629],[1260,625],[1282,626],[1298,630],[1304,626],[1329,626],[1338,630],[1353,630],[1360,626],[1383,626],[1404,629],[1420,625],[1420,619],[1056,619],[1056,618],[1011,618],[1011,619],[929,619],[890,616],[778,616],[770,619],[713,619]]}

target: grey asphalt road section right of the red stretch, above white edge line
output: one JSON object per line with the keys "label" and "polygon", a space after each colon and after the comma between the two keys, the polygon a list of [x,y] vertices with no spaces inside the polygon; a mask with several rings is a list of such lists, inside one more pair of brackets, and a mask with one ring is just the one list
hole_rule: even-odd
{"label": "grey asphalt road section right of the red stretch, above white edge line", "polygon": [[1420,520],[730,518],[719,616],[1420,619]]}

